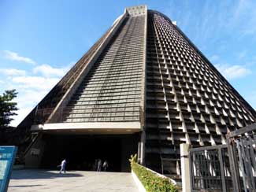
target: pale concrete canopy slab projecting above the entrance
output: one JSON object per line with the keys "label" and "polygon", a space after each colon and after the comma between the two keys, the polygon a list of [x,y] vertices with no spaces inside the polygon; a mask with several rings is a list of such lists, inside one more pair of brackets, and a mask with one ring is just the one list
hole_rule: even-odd
{"label": "pale concrete canopy slab projecting above the entrance", "polygon": [[91,134],[133,134],[142,131],[139,122],[34,124],[31,131]]}

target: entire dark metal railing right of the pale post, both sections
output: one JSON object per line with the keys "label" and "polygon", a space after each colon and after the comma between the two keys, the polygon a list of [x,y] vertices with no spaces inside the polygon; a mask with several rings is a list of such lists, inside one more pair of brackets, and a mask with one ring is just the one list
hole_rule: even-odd
{"label": "entire dark metal railing right of the pale post, both sections", "polygon": [[256,124],[232,131],[227,145],[189,151],[192,191],[256,192]]}

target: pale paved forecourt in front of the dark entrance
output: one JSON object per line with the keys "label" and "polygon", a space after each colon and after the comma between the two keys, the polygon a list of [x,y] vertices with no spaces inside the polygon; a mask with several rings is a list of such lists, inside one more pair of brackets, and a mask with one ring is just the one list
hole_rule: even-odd
{"label": "pale paved forecourt in front of the dark entrance", "polygon": [[13,170],[8,192],[139,192],[131,173],[46,170]]}

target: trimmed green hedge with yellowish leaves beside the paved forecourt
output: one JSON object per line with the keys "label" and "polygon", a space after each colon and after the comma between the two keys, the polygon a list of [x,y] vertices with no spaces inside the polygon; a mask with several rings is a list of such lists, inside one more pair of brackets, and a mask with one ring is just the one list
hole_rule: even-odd
{"label": "trimmed green hedge with yellowish leaves beside the paved forecourt", "polygon": [[150,172],[147,168],[136,163],[137,156],[131,156],[129,160],[131,162],[132,171],[137,175],[140,182],[147,192],[177,192],[176,186],[167,178],[161,178],[154,172]]}

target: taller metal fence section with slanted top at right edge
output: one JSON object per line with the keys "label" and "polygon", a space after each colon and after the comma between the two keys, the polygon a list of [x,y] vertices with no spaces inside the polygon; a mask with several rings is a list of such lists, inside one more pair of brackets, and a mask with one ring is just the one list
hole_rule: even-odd
{"label": "taller metal fence section with slanted top at right edge", "polygon": [[256,191],[256,124],[227,135],[234,191]]}

